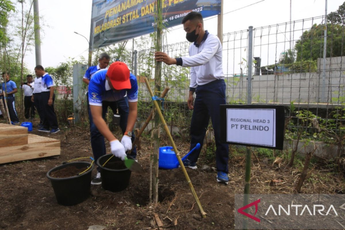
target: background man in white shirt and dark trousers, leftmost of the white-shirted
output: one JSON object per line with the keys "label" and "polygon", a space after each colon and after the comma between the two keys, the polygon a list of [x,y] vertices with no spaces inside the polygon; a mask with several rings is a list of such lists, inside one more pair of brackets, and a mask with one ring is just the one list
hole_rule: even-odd
{"label": "background man in white shirt and dark trousers, leftmost of the white-shirted", "polygon": [[28,74],[26,76],[27,82],[21,82],[20,88],[24,91],[24,117],[26,119],[33,119],[35,116],[35,107],[33,102],[31,101],[32,92],[35,88],[34,83],[32,82],[32,75]]}

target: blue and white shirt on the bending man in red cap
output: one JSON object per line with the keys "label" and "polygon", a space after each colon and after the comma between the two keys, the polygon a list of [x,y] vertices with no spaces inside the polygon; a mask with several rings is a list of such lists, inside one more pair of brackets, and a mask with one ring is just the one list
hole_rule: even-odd
{"label": "blue and white shirt on the bending man in red cap", "polygon": [[97,71],[91,78],[89,84],[89,104],[91,106],[102,106],[102,101],[118,101],[126,96],[129,102],[138,101],[138,83],[133,74],[129,74],[131,83],[130,89],[114,91],[110,88],[106,79],[107,69]]}

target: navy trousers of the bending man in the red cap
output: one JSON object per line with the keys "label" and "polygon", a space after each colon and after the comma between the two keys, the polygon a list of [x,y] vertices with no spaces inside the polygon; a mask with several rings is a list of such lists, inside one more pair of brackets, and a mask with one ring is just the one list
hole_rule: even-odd
{"label": "navy trousers of the bending man in the red cap", "polygon": [[[122,135],[126,132],[127,128],[127,120],[129,114],[129,107],[128,107],[128,98],[124,97],[118,101],[102,101],[102,117],[105,119],[106,113],[108,111],[108,107],[116,113],[118,109],[120,114],[120,128],[122,131]],[[97,162],[97,159],[101,156],[106,154],[106,144],[104,141],[103,135],[98,131],[95,123],[93,123],[91,111],[89,109],[89,119],[90,119],[90,134],[91,134],[91,148],[93,153],[93,158]],[[135,139],[134,134],[132,135],[132,143]],[[130,156],[133,158],[137,157],[137,150],[136,148],[130,153]]]}

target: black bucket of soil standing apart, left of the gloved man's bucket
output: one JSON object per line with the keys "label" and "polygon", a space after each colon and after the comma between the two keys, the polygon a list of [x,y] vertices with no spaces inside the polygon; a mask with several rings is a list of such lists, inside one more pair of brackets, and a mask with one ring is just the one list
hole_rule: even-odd
{"label": "black bucket of soil standing apart, left of the gloved man's bucket", "polygon": [[75,166],[77,168],[90,167],[89,162],[76,161],[61,164],[47,172],[47,177],[54,189],[55,197],[59,204],[71,206],[86,200],[90,196],[91,173],[94,165],[85,173],[73,177],[54,178],[50,174],[56,170],[66,168],[67,166]]}

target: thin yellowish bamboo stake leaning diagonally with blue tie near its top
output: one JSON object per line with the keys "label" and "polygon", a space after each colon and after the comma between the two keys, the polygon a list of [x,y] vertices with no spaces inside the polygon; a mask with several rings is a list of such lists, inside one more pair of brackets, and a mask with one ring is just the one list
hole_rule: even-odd
{"label": "thin yellowish bamboo stake leaning diagonally with blue tie near its top", "polygon": [[[146,83],[147,89],[148,89],[148,91],[149,91],[151,97],[153,97],[154,94],[152,93],[152,90],[151,90],[151,87],[150,87],[150,84],[149,84],[147,78],[145,78],[145,83]],[[203,207],[201,206],[201,203],[200,203],[200,201],[199,201],[199,198],[198,198],[198,196],[197,196],[197,194],[196,194],[196,192],[195,192],[195,190],[194,190],[193,184],[192,184],[192,182],[191,182],[190,179],[189,179],[189,176],[188,176],[188,173],[187,173],[187,171],[186,171],[186,168],[185,168],[185,166],[183,165],[183,162],[182,162],[182,160],[181,160],[180,153],[178,152],[178,150],[177,150],[177,148],[176,148],[176,145],[175,145],[175,142],[174,142],[174,140],[172,139],[171,133],[170,133],[170,131],[169,131],[169,129],[168,129],[167,123],[166,123],[165,120],[164,120],[163,114],[162,114],[162,112],[160,111],[159,105],[158,105],[157,101],[155,101],[155,100],[153,101],[153,103],[155,104],[156,111],[157,111],[157,113],[158,113],[158,115],[159,115],[160,120],[162,121],[164,130],[165,130],[165,132],[166,132],[167,135],[168,135],[168,138],[169,138],[169,140],[170,140],[170,142],[171,142],[172,148],[173,148],[174,151],[175,151],[177,160],[178,160],[178,162],[179,162],[179,164],[180,164],[180,166],[181,166],[181,169],[182,169],[182,171],[183,171],[183,174],[184,174],[185,177],[186,177],[186,180],[187,180],[188,185],[189,185],[189,187],[190,187],[190,190],[191,190],[191,192],[192,192],[192,194],[193,194],[193,196],[194,196],[194,199],[195,199],[196,203],[198,204],[198,207],[199,207],[199,209],[200,209],[201,215],[203,216],[203,218],[206,218],[206,212],[203,210]]]}

